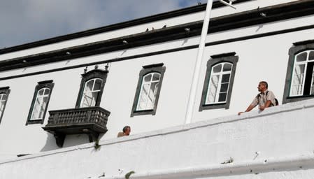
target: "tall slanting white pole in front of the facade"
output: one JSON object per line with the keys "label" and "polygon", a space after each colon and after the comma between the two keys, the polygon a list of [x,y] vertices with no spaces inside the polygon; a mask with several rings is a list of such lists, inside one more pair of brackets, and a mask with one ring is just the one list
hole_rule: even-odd
{"label": "tall slanting white pole in front of the facade", "polygon": [[199,72],[201,71],[201,61],[204,55],[204,48],[206,42],[206,36],[208,31],[210,11],[213,6],[213,0],[207,1],[206,13],[203,22],[203,28],[201,29],[201,39],[199,40],[199,50],[197,52],[197,62],[195,62],[194,73],[192,78],[192,85],[190,89],[189,101],[187,103],[187,113],[185,114],[185,124],[192,122],[193,110],[195,106],[195,98],[197,95],[197,85],[199,83]]}

